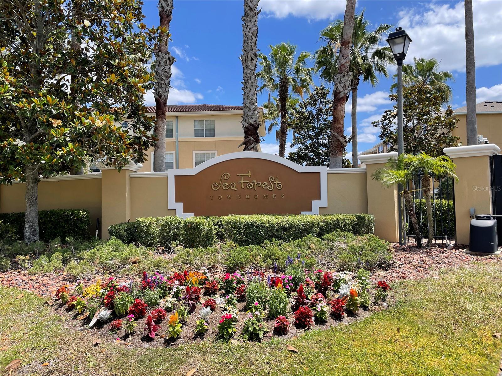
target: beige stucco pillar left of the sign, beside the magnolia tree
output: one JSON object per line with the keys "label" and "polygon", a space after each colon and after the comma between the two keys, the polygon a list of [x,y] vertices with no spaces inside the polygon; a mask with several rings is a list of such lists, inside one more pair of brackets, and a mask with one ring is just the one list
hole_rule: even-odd
{"label": "beige stucco pillar left of the sign, beside the magnolia tree", "polygon": [[131,219],[130,173],[141,164],[129,164],[119,172],[113,167],[101,169],[101,238],[108,239],[108,227]]}

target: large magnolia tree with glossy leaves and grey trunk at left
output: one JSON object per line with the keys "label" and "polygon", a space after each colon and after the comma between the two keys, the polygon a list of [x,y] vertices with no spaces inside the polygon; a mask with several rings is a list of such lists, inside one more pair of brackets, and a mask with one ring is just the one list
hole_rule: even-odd
{"label": "large magnolia tree with glossy leaves and grey trunk at left", "polygon": [[[4,1],[0,182],[26,181],[25,241],[39,239],[40,178],[100,161],[120,169],[153,146],[143,95],[157,29],[139,1]],[[127,126],[116,126],[127,116]]]}

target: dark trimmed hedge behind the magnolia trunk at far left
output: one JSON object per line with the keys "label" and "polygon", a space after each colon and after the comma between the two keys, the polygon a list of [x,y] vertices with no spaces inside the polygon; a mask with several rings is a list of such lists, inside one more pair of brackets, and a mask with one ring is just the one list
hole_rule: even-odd
{"label": "dark trimmed hedge behind the magnolia trunk at far left", "polygon": [[[66,239],[67,237],[87,239],[89,238],[90,224],[89,211],[85,209],[55,209],[38,212],[40,240],[43,242],[49,242],[56,238]],[[23,240],[25,237],[25,213],[2,214],[3,226],[14,229],[17,238]]]}

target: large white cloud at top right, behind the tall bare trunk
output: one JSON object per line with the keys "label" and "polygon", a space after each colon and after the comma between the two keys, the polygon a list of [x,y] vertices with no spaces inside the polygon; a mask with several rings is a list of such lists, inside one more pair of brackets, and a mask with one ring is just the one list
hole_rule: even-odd
{"label": "large white cloud at top right, behind the tall bare trunk", "polygon": [[[465,16],[463,2],[420,3],[400,12],[397,26],[406,29],[413,42],[406,62],[413,57],[436,58],[440,68],[465,71]],[[476,68],[502,64],[502,2],[473,2]]]}

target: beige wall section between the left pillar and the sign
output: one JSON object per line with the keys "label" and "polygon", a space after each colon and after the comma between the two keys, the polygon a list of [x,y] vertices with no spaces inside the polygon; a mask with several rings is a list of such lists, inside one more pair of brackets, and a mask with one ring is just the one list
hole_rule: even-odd
{"label": "beige wall section between the left pillar and the sign", "polygon": [[176,215],[167,208],[167,176],[131,178],[131,221]]}

